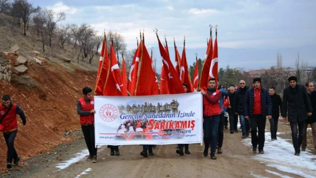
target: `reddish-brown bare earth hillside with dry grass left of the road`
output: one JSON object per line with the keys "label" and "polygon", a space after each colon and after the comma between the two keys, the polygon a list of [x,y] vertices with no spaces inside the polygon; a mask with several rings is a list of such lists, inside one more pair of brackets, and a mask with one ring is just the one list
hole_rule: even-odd
{"label": "reddish-brown bare earth hillside with dry grass left of the road", "polygon": [[[27,59],[32,58],[31,51],[41,52],[41,43],[35,35],[28,32],[25,37],[22,31],[12,28],[9,17],[0,14],[0,19],[0,53],[15,44],[20,48],[16,55]],[[82,96],[83,87],[94,88],[95,84],[97,55],[92,64],[78,63],[76,49],[70,45],[64,50],[55,45],[53,52],[46,48],[39,56],[41,65],[27,62],[26,74],[12,75],[9,84],[0,81],[0,95],[9,94],[27,116],[26,126],[18,117],[19,132],[15,140],[15,149],[22,160],[73,140],[64,133],[80,128],[76,100]],[[71,62],[65,63],[63,57]],[[0,143],[0,170],[3,170],[7,148],[2,136]]]}

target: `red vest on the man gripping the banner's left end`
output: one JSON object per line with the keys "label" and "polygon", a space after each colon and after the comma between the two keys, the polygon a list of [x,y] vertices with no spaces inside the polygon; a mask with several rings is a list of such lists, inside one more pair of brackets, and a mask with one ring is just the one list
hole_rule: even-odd
{"label": "red vest on the man gripping the banner's left end", "polygon": [[[86,101],[86,99],[84,99],[84,97],[80,98],[79,102],[81,104],[82,111],[91,111],[92,109],[94,109],[94,98],[93,97],[91,98],[89,103],[87,103],[87,101]],[[81,115],[80,116],[80,124],[81,125],[94,124],[94,114]]]}

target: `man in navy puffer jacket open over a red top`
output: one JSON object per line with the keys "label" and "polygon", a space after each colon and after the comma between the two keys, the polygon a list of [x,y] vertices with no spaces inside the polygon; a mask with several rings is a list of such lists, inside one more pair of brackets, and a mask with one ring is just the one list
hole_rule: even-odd
{"label": "man in navy puffer jacket open over a red top", "polygon": [[260,78],[254,78],[253,87],[246,92],[244,114],[251,120],[252,151],[256,153],[259,145],[259,153],[263,154],[265,122],[267,116],[272,118],[272,103],[268,90],[261,86]]}

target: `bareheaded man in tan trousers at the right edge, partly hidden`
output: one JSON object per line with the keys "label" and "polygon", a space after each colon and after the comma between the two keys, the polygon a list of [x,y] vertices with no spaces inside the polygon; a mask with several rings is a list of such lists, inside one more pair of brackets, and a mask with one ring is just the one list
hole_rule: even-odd
{"label": "bareheaded man in tan trousers at the right edge, partly hidden", "polygon": [[305,121],[305,134],[303,135],[302,151],[305,151],[306,146],[307,146],[306,137],[307,137],[308,124],[310,124],[312,127],[313,142],[314,142],[314,147],[316,150],[316,91],[314,91],[313,82],[306,82],[305,87],[309,95],[309,99],[311,100],[313,112],[312,112],[312,116],[308,116],[308,119]]}

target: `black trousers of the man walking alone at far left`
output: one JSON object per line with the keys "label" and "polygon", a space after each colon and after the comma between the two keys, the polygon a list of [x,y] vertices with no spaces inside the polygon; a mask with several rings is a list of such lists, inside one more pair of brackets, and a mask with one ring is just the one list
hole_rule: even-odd
{"label": "black trousers of the man walking alone at far left", "polygon": [[16,133],[18,131],[15,130],[10,133],[3,133],[3,137],[5,140],[5,143],[7,144],[8,151],[7,151],[7,163],[12,163],[12,159],[17,160],[18,159],[18,154],[15,151],[14,148],[14,139],[16,137]]}

